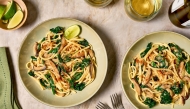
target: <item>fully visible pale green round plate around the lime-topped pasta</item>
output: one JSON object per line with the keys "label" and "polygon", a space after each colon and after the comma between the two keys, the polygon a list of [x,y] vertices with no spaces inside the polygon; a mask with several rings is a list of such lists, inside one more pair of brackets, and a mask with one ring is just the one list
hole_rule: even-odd
{"label": "fully visible pale green round plate around the lime-topped pasta", "polygon": [[[25,65],[27,61],[30,60],[30,56],[33,55],[32,48],[34,42],[41,40],[50,28],[54,28],[56,26],[69,27],[75,24],[82,27],[80,36],[87,39],[93,46],[98,65],[96,78],[84,90],[79,91],[76,94],[72,94],[67,97],[57,97],[52,94],[51,90],[42,91],[40,86],[27,74]],[[26,39],[20,47],[18,56],[20,78],[26,90],[40,102],[54,107],[75,106],[90,99],[99,90],[105,79],[108,65],[107,61],[105,46],[98,34],[87,24],[70,18],[56,18],[39,24],[26,36]]]}

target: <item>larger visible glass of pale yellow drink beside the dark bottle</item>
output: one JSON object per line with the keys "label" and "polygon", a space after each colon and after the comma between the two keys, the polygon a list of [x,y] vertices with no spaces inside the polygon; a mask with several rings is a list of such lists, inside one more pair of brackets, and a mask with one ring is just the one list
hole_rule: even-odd
{"label": "larger visible glass of pale yellow drink beside the dark bottle", "polygon": [[136,21],[149,21],[154,18],[160,8],[162,0],[125,0],[127,15]]}

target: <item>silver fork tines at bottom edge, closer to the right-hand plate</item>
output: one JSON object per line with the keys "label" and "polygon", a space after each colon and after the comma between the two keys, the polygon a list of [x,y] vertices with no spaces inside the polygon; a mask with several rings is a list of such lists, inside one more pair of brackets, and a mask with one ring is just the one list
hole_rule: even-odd
{"label": "silver fork tines at bottom edge, closer to the right-hand plate", "polygon": [[121,101],[121,96],[118,96],[117,93],[110,96],[113,109],[125,109]]}

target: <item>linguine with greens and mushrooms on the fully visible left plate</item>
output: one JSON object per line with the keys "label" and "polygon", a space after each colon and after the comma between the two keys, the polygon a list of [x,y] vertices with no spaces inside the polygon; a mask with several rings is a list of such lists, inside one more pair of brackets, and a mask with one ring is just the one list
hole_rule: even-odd
{"label": "linguine with greens and mushrooms on the fully visible left plate", "polygon": [[34,56],[26,64],[28,74],[43,90],[50,89],[57,96],[81,91],[96,75],[96,57],[92,46],[84,38],[64,37],[64,28],[50,29],[35,42]]}

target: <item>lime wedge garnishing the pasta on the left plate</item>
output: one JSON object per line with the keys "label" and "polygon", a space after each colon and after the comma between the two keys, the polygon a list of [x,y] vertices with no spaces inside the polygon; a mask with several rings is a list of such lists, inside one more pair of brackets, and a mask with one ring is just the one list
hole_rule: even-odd
{"label": "lime wedge garnishing the pasta on the left plate", "polygon": [[81,28],[79,25],[72,25],[65,30],[64,35],[66,39],[72,39],[78,36],[80,32],[81,32]]}

